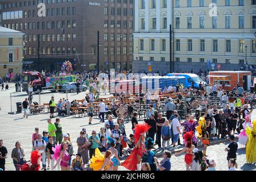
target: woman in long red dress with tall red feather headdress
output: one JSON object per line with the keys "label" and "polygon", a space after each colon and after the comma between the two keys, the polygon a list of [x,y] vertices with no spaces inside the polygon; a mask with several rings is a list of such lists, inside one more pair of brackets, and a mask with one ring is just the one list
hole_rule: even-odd
{"label": "woman in long red dress with tall red feather headdress", "polygon": [[145,133],[151,126],[147,123],[138,124],[134,128],[135,147],[131,155],[122,163],[122,166],[130,171],[141,171],[141,159],[145,153]]}

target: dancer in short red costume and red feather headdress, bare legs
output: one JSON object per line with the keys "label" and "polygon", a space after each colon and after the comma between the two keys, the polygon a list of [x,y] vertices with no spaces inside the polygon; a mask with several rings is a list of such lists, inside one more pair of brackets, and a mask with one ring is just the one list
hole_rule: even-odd
{"label": "dancer in short red costume and red feather headdress, bare legs", "polygon": [[186,152],[186,155],[185,155],[186,170],[189,171],[189,167],[192,165],[192,162],[193,162],[192,151],[195,148],[195,146],[192,144],[193,131],[187,132],[183,136],[183,138],[184,138],[184,141],[186,143],[186,146],[183,147],[181,152],[177,152],[175,154],[175,156],[183,154],[183,152]]}

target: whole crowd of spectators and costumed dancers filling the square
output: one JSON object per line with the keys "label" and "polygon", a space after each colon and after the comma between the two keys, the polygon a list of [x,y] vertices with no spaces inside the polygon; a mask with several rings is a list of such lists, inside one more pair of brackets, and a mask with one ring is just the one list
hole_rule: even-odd
{"label": "whole crowd of spectators and costumed dancers filling the square", "polygon": [[[47,130],[43,130],[41,134],[39,129],[35,128],[35,133],[32,135],[30,164],[26,163],[21,142],[15,143],[11,158],[17,171],[38,170],[40,163],[42,170],[57,168],[62,171],[91,169],[117,171],[119,166],[123,166],[138,171],[170,171],[171,151],[176,150],[178,145],[183,146],[183,149],[176,152],[175,156],[185,153],[186,170],[214,171],[217,163],[214,159],[208,159],[207,147],[213,140],[219,138],[229,138],[231,141],[225,151],[227,151],[227,167],[230,171],[234,171],[238,169],[236,162],[238,144],[234,137],[236,134],[239,134],[239,143],[246,146],[246,161],[256,162],[256,121],[251,121],[256,94],[245,93],[242,86],[237,85],[231,92],[227,92],[223,87],[218,88],[216,85],[199,84],[199,88],[191,86],[188,89],[179,84],[169,86],[162,92],[158,90],[150,93],[147,90],[145,94],[143,92],[136,94],[134,105],[126,104],[124,101],[125,98],[132,97],[130,92],[119,93],[118,97],[107,105],[99,98],[100,92],[106,93],[107,81],[102,79],[101,87],[98,86],[101,84],[96,74],[79,75],[77,78],[85,81],[89,86],[90,93],[86,94],[82,102],[82,105],[87,107],[89,125],[95,122],[93,118],[95,108],[91,107],[91,102],[100,102],[97,114],[99,121],[103,123],[101,130],[98,133],[92,131],[91,134],[87,134],[86,129],[82,129],[76,142],[71,142],[70,134],[62,132],[61,121],[54,116],[55,107],[58,115],[62,114],[63,107],[66,107],[66,114],[70,115],[70,107],[78,106],[79,103],[77,100],[70,102],[62,98],[56,105],[52,97],[49,102],[50,118],[47,119]],[[205,91],[203,100],[198,101],[196,97],[201,96],[202,91]],[[176,92],[178,98],[167,97],[163,110],[160,109],[159,96],[170,92]],[[184,94],[189,100],[184,101]],[[210,103],[211,97],[217,98],[217,104]],[[148,106],[143,123],[138,122],[138,113],[134,111],[134,108],[140,108],[140,105]],[[22,103],[22,107],[25,109],[24,117],[27,117],[26,110],[29,107],[27,99]],[[186,114],[182,116],[185,109]],[[197,109],[198,112],[195,114],[191,112]],[[126,133],[127,126],[124,122],[126,113],[131,116],[133,132],[130,134]],[[107,121],[105,114],[108,115]],[[54,123],[53,118],[55,118]],[[77,152],[73,150],[74,144],[78,147]],[[198,149],[200,144],[203,147],[202,151]],[[155,146],[163,152],[161,161],[155,156],[153,151]],[[2,140],[0,140],[0,152],[0,168],[4,170],[7,149],[3,146]],[[34,160],[38,158],[41,160]],[[125,161],[122,163],[123,159]]]}

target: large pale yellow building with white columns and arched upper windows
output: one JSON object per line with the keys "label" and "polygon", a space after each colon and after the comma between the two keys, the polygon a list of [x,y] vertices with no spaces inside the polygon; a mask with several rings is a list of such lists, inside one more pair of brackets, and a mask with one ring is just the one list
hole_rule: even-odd
{"label": "large pale yellow building with white columns and arched upper windows", "polygon": [[256,65],[255,0],[135,1],[133,67],[169,71],[169,24],[175,71],[206,69],[209,59],[222,70]]}

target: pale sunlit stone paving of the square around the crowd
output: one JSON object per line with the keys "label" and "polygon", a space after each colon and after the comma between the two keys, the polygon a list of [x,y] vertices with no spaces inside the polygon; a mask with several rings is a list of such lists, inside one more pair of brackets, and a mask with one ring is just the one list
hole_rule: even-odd
{"label": "pale sunlit stone paving of the square around the crowd", "polygon": [[[15,170],[12,159],[11,159],[11,150],[14,148],[14,144],[19,140],[22,144],[22,147],[25,150],[26,159],[29,159],[32,144],[31,136],[34,132],[35,127],[39,127],[39,132],[42,133],[43,130],[47,130],[47,118],[49,114],[39,114],[31,115],[29,118],[23,118],[23,114],[7,114],[10,112],[10,93],[15,92],[14,85],[10,84],[11,88],[7,91],[0,92],[0,138],[3,139],[3,145],[7,147],[8,158],[6,159],[6,170],[13,171]],[[67,98],[66,93],[43,93],[41,94],[41,104],[48,103],[51,96],[55,97],[55,100],[59,98]],[[21,102],[27,98],[26,93],[12,93],[12,110],[16,111],[15,102]],[[78,99],[81,100],[85,97],[85,92],[79,93],[68,93],[69,100]],[[102,97],[108,97],[102,95]],[[34,95],[34,101],[39,101],[39,95]],[[93,125],[88,125],[89,121],[87,117],[60,117],[63,133],[69,132],[71,135],[71,142],[74,146],[74,152],[77,152],[77,145],[75,141],[79,137],[79,132],[82,128],[87,129],[87,133],[90,135],[91,131],[99,131],[103,127],[103,123],[99,123],[99,119],[93,119]],[[253,118],[256,119],[256,111],[253,113]],[[116,119],[114,119],[116,121]],[[131,133],[131,122],[126,124],[126,133]],[[207,155],[209,159],[214,159],[217,162],[218,170],[227,170],[227,153],[224,151],[225,146],[229,144],[229,141],[214,144],[207,148]],[[246,164],[245,158],[245,148],[239,144],[238,147],[238,166],[240,170],[256,170],[255,164]],[[182,146],[179,147],[180,150]],[[161,159],[161,158],[160,158]],[[173,171],[184,171],[186,169],[184,162],[184,155],[175,156],[174,152],[171,156],[171,170]],[[119,170],[126,170],[123,167],[119,167]]]}

